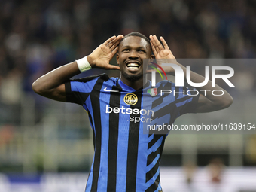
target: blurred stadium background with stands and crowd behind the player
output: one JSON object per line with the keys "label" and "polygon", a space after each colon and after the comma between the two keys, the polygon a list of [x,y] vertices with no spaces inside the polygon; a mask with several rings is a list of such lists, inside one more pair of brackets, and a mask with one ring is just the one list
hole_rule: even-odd
{"label": "blurred stadium background with stands and crowd behind the player", "polygon": [[[133,31],[163,35],[176,58],[251,59],[232,66],[230,108],[177,123],[256,123],[255,0],[0,0],[1,192],[84,190],[93,159],[87,114],[31,84]],[[256,191],[256,135],[170,134],[161,164],[164,191]]]}

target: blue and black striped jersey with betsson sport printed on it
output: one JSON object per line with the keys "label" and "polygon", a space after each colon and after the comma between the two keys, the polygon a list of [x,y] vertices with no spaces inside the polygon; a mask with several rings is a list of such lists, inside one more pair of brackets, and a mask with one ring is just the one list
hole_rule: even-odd
{"label": "blue and black striped jersey with betsson sport printed on it", "polygon": [[172,124],[181,114],[195,111],[198,96],[184,95],[184,90],[170,81],[156,87],[148,81],[134,90],[105,74],[66,83],[67,102],[84,107],[93,129],[86,191],[162,191],[159,165],[169,132],[156,134],[147,128]]}

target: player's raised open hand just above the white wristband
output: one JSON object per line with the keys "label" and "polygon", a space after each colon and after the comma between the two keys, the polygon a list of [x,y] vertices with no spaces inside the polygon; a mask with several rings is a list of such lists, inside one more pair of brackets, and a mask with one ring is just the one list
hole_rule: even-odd
{"label": "player's raised open hand just above the white wristband", "polygon": [[87,56],[87,60],[92,68],[101,69],[120,69],[119,66],[109,64],[109,61],[117,53],[118,45],[123,38],[123,35],[113,36],[108,38],[103,44],[99,45],[93,53]]}

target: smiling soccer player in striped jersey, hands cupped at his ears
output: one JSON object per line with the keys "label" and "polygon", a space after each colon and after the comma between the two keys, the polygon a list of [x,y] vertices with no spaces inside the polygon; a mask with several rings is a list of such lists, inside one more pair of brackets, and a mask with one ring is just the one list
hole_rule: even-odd
{"label": "smiling soccer player in striped jersey, hands cupped at his ears", "polygon": [[[144,134],[143,123],[172,124],[181,114],[216,111],[233,102],[227,91],[218,86],[215,89],[223,90],[222,96],[147,93],[152,86],[150,81],[144,84],[143,59],[175,59],[166,41],[162,37],[160,41],[155,35],[150,35],[149,40],[139,32],[113,36],[90,55],[61,66],[32,84],[41,96],[77,103],[88,112],[95,153],[86,191],[162,191],[159,165],[167,134]],[[115,54],[119,66],[109,64]],[[186,74],[186,68],[178,62],[177,65]],[[120,69],[120,78],[103,74],[70,80],[90,68]],[[174,74],[171,67],[164,70]],[[195,83],[204,81],[194,72],[190,72],[190,79]],[[155,87],[158,90],[175,84],[161,81]],[[211,82],[200,89],[212,90]]]}

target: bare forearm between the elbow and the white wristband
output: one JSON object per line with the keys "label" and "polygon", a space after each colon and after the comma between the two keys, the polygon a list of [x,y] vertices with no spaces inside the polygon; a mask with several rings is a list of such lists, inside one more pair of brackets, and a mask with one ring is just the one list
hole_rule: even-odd
{"label": "bare forearm between the elbow and the white wristband", "polygon": [[48,72],[46,75],[38,78],[33,84],[32,89],[35,93],[44,94],[49,93],[51,90],[59,87],[61,84],[64,84],[66,81],[69,81],[75,75],[78,75],[80,70],[78,69],[77,62],[70,62],[65,66],[60,66],[57,69],[54,69],[51,72]]}

